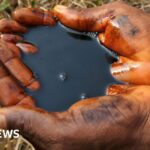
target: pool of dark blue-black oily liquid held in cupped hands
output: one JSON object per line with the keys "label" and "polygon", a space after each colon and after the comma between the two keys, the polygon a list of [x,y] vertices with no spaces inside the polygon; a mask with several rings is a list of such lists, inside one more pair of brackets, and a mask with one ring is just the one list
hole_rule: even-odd
{"label": "pool of dark blue-black oily liquid held in cupped hands", "polygon": [[117,83],[109,69],[114,57],[96,39],[60,25],[32,28],[24,39],[39,48],[23,60],[41,83],[39,91],[27,91],[41,108],[62,111],[80,99],[105,95],[106,87]]}

